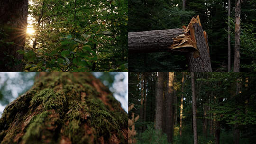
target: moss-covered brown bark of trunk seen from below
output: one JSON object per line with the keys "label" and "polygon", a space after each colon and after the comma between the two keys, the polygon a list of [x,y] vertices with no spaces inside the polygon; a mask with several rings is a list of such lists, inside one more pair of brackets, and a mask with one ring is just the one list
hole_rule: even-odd
{"label": "moss-covered brown bark of trunk seen from below", "polygon": [[127,144],[128,114],[87,72],[43,73],[0,119],[0,144]]}

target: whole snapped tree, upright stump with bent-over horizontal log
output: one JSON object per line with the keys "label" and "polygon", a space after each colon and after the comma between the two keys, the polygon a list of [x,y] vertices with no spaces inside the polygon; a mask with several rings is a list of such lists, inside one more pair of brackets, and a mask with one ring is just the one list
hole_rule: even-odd
{"label": "whole snapped tree, upright stump with bent-over horizontal log", "polygon": [[212,72],[208,38],[199,16],[183,29],[153,30],[128,33],[129,53],[186,52],[191,72]]}

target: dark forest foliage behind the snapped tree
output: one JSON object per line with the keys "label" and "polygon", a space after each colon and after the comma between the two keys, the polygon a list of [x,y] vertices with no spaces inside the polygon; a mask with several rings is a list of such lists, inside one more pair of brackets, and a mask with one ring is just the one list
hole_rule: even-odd
{"label": "dark forest foliage behind the snapped tree", "polygon": [[[241,69],[255,71],[255,0],[241,3]],[[228,0],[129,0],[129,32],[181,28],[199,15],[202,28],[208,34],[213,72],[226,72],[228,65]],[[235,1],[231,0],[231,18],[234,19]],[[235,26],[234,20],[231,25]],[[231,66],[234,60],[235,28],[231,27]],[[129,69],[135,72],[188,71],[183,54],[170,53],[129,54]]]}

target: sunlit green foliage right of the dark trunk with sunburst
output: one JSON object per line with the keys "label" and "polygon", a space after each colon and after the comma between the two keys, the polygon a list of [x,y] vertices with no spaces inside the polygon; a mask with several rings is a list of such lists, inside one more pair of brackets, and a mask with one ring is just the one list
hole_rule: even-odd
{"label": "sunlit green foliage right of the dark trunk with sunburst", "polygon": [[31,0],[25,71],[127,71],[127,0]]}

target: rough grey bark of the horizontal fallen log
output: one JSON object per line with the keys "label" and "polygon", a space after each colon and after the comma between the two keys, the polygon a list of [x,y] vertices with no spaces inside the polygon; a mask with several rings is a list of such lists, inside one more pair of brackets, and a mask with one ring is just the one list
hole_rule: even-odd
{"label": "rough grey bark of the horizontal fallen log", "polygon": [[183,33],[181,28],[128,33],[129,53],[167,51],[174,42],[173,38]]}

